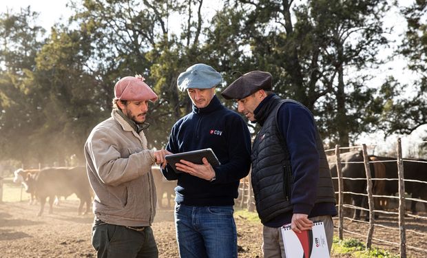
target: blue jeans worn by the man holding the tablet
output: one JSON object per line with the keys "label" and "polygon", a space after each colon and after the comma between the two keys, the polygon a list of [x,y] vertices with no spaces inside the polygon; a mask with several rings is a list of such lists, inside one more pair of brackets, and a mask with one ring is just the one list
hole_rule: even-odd
{"label": "blue jeans worn by the man holding the tablet", "polygon": [[176,204],[176,240],[180,257],[237,257],[233,212],[233,206]]}

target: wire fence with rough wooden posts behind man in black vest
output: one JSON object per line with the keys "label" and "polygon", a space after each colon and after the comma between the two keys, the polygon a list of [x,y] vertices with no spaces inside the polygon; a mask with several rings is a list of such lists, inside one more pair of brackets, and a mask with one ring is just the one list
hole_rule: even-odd
{"label": "wire fence with rough wooden posts behind man in black vest", "polygon": [[[346,152],[341,153],[341,151]],[[406,250],[414,250],[420,257],[427,257],[427,250],[424,249],[425,244],[427,244],[427,224],[424,221],[427,217],[413,214],[412,211],[407,211],[406,208],[407,202],[410,204],[413,202],[422,205],[427,204],[426,180],[410,178],[410,175],[414,173],[417,173],[421,178],[427,177],[427,160],[402,158],[402,142],[400,138],[397,139],[397,158],[368,155],[366,144],[353,147],[337,146],[335,149],[326,150],[326,152],[333,153],[329,157],[333,157],[331,160],[335,160],[329,160],[329,166],[332,170],[335,169],[335,171],[331,172],[336,175],[333,177],[333,181],[337,195],[338,215],[334,217],[334,224],[338,237],[343,239],[344,233],[346,233],[362,238],[366,241],[366,248],[371,248],[373,242],[378,245],[392,245],[399,248],[400,257],[407,257]],[[360,159],[342,159],[344,155],[349,155],[347,153],[353,152],[359,152]],[[353,174],[346,173],[351,166],[356,164],[359,168],[362,168],[362,171]],[[417,168],[418,166],[413,164],[421,164],[421,168]],[[381,165],[388,170],[393,168],[394,171],[395,169],[395,176],[391,178],[390,175],[376,175],[375,166],[377,165]],[[411,169],[418,170],[410,171]],[[241,208],[247,208],[249,211],[255,211],[250,175],[251,173],[247,178],[240,180],[239,198],[236,201],[236,205]],[[354,175],[359,176],[355,177]],[[406,178],[406,175],[408,175],[408,178]],[[375,188],[375,186],[379,185],[379,182],[382,182],[382,186],[385,189]],[[364,186],[363,191],[351,191],[352,187],[348,186],[355,184],[362,184]],[[395,186],[395,189],[390,191],[390,185]],[[405,186],[407,188],[410,186],[410,189],[405,190]],[[410,193],[412,193],[412,196]],[[413,196],[415,194],[420,195],[419,193],[421,193],[421,196]],[[362,202],[355,204],[355,199],[362,200]],[[379,200],[383,204],[378,204]],[[386,203],[385,205],[384,202]],[[415,206],[415,208],[417,207]],[[346,215],[344,215],[344,209],[346,210]],[[426,211],[426,208],[424,208],[424,211]],[[366,213],[366,221],[360,219],[360,217],[355,217],[354,214],[356,212]],[[353,217],[350,217],[351,213],[353,213]],[[382,219],[377,219],[377,217],[382,217]],[[357,228],[357,230],[350,230],[348,228],[349,224],[352,224],[351,228]],[[354,226],[354,224],[360,224],[360,226]],[[425,226],[418,226],[420,224]],[[386,234],[387,237],[385,239],[384,237],[376,237],[375,228],[382,231],[388,230],[390,234]]]}

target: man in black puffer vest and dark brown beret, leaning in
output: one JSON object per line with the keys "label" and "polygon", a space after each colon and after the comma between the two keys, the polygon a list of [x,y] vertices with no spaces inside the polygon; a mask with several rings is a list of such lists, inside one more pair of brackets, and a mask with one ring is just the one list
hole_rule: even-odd
{"label": "man in black puffer vest and dark brown beret, leaning in", "polygon": [[[264,257],[285,257],[280,227],[295,232],[324,222],[329,252],[335,193],[313,115],[295,100],[271,92],[271,74],[243,74],[222,93],[236,99],[238,111],[261,129],[252,144],[252,186],[264,225]],[[291,258],[291,257],[288,257]]]}

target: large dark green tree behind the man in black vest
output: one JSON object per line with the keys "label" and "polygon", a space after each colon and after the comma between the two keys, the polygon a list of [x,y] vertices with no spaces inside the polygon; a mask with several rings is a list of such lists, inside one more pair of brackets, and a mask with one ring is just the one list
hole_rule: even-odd
{"label": "large dark green tree behind the man in black vest", "polygon": [[[378,125],[376,114],[370,112],[376,107],[377,92],[366,85],[372,76],[346,74],[381,63],[377,52],[388,43],[382,27],[388,2],[292,3],[226,4],[213,19],[209,49],[220,49],[218,44],[226,39],[236,42],[224,50],[227,54],[214,52],[213,58],[226,72],[271,72],[274,92],[306,105],[317,119],[322,138],[346,146],[361,131],[373,131]],[[366,119],[360,119],[360,114]]]}

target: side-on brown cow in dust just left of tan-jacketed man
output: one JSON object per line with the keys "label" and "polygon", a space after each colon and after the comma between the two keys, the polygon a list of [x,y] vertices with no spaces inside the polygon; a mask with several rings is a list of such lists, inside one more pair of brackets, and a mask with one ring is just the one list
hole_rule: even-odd
{"label": "side-on brown cow in dust just left of tan-jacketed man", "polygon": [[[43,214],[46,198],[49,197],[49,213],[53,213],[52,204],[54,197],[68,197],[75,193],[79,197],[79,215],[86,203],[84,214],[89,213],[92,204],[92,194],[89,180],[87,179],[86,169],[84,166],[72,168],[65,167],[48,167],[41,169],[26,178],[30,191],[34,191],[40,201],[40,211],[37,216]],[[33,190],[34,189],[34,190]]]}

